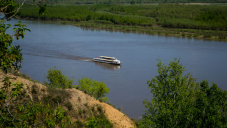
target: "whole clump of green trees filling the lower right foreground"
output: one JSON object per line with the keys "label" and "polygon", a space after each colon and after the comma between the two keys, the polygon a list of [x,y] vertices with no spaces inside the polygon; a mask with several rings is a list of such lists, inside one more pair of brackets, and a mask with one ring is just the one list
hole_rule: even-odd
{"label": "whole clump of green trees filling the lower right foreground", "polygon": [[179,60],[157,64],[159,75],[148,81],[152,101],[146,108],[140,127],[226,127],[227,91],[216,84],[208,86],[188,73]]}

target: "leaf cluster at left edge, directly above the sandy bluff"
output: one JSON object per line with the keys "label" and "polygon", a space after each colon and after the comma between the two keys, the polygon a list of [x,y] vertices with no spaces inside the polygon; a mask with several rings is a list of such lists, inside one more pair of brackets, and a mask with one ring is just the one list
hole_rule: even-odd
{"label": "leaf cluster at left edge, directly above the sandy bluff", "polygon": [[11,27],[10,24],[5,24],[4,21],[0,23],[0,67],[3,67],[5,73],[8,69],[13,66],[16,70],[21,68],[20,62],[23,60],[22,54],[20,53],[20,46],[12,45],[13,37],[15,36],[17,40],[21,37],[24,38],[25,31],[30,31],[25,28],[26,25],[18,21],[18,24],[14,25],[14,35],[9,35],[6,30]]}

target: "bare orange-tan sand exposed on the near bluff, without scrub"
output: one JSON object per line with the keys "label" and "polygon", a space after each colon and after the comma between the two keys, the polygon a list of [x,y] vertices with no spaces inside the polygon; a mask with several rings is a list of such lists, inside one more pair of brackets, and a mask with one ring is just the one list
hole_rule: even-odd
{"label": "bare orange-tan sand exposed on the near bluff, without scrub", "polygon": [[[15,75],[8,75],[8,76],[13,78],[11,80],[11,82],[13,83],[16,83],[16,82],[23,83],[24,89],[29,89],[29,88],[31,89],[32,86],[34,87],[35,85],[36,90],[38,92],[42,92],[42,93],[38,93],[39,94],[37,96],[38,99],[41,99],[43,95],[48,93],[47,91],[44,91],[44,90],[47,90],[48,88],[40,83],[35,83],[33,81],[30,81],[28,79],[15,76]],[[1,81],[3,77],[4,77],[4,73],[0,71]],[[0,87],[3,86],[3,83],[1,81],[0,81]],[[29,92],[28,90],[26,91]],[[84,108],[86,106],[101,106],[105,112],[105,116],[113,124],[114,128],[122,128],[122,127],[134,128],[135,127],[133,121],[131,121],[125,114],[115,109],[114,107],[106,103],[100,102],[94,99],[93,97],[91,97],[90,95],[85,94],[84,92],[77,90],[75,88],[65,89],[65,91],[67,91],[68,94],[70,95],[68,98],[68,101],[72,104],[73,110],[77,110],[78,108]],[[29,96],[31,97],[31,99],[34,98],[32,94],[29,94]],[[63,108],[67,109],[66,107],[63,107]],[[71,117],[72,121],[76,121],[78,119],[83,120],[82,118],[77,118],[77,115],[71,115],[71,116],[72,116]]]}

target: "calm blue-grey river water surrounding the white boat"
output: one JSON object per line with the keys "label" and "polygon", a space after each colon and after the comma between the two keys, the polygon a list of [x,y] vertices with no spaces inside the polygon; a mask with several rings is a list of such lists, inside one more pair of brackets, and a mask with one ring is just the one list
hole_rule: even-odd
{"label": "calm blue-grey river water surrounding the white boat", "polygon": [[[9,23],[16,23],[13,19]],[[129,117],[144,112],[143,100],[151,100],[147,80],[157,75],[157,59],[164,64],[180,58],[181,64],[197,78],[214,82],[227,90],[227,42],[204,41],[182,37],[166,37],[105,30],[86,30],[49,21],[26,21],[31,30],[21,45],[21,72],[42,82],[44,73],[54,66],[67,77],[89,77],[104,81],[110,88],[110,103]],[[96,56],[114,56],[121,66],[94,63]]]}

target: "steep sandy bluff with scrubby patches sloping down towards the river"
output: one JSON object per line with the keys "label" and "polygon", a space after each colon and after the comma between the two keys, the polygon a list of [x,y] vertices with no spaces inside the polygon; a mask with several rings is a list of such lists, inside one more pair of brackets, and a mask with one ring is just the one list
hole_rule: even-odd
{"label": "steep sandy bluff with scrubby patches sloping down towards the river", "polygon": [[[4,77],[4,75],[5,74],[2,71],[0,71],[0,78],[1,78],[0,87],[3,86],[2,78]],[[106,118],[113,124],[114,128],[136,127],[134,122],[131,121],[125,114],[123,114],[119,110],[115,109],[109,104],[96,100],[95,98],[91,97],[88,94],[85,94],[84,92],[78,89],[75,89],[75,88],[55,89],[55,91],[53,91],[40,83],[22,78],[20,76],[15,76],[12,74],[7,76],[13,78],[11,79],[12,83],[16,83],[16,82],[23,83],[24,91],[33,101],[34,100],[41,101],[41,99],[48,100],[48,98],[50,99],[50,97],[52,97],[52,100],[54,98],[61,99],[59,102],[62,102],[64,104],[61,104],[57,101],[56,105],[60,104],[65,110],[70,111],[69,116],[71,117],[72,122],[75,122],[75,121],[86,122],[86,119],[89,116],[91,116],[92,113],[94,113],[93,111],[95,110],[98,111],[99,108],[102,108],[101,111],[104,113]],[[69,105],[67,106],[67,104],[70,104],[70,107]]]}

